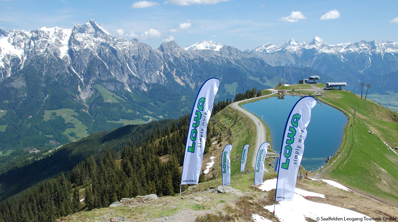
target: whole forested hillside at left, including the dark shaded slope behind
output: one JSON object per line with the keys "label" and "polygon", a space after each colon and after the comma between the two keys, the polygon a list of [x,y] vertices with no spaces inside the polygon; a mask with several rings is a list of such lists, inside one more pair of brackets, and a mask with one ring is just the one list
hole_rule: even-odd
{"label": "whole forested hillside at left, including the dark shaded slope behind", "polygon": [[[236,98],[258,95],[254,88]],[[213,115],[231,102],[219,101]],[[45,180],[3,201],[0,221],[54,221],[79,210],[109,206],[121,198],[174,195],[179,192],[188,126],[189,116],[185,115],[92,134],[64,145],[52,156],[8,171],[0,177],[3,199]],[[208,128],[208,137],[217,134]],[[205,153],[210,145],[208,139]]]}

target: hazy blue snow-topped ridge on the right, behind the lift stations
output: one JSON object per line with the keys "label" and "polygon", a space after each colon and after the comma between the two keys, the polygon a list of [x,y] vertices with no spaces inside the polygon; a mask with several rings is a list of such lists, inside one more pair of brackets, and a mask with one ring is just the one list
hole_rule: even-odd
{"label": "hazy blue snow-topped ridge on the right, behind the lift stations", "polygon": [[[287,39],[278,45],[267,43],[246,52],[272,66],[310,67],[354,86],[360,82],[381,82],[378,78],[391,78],[389,76],[398,70],[398,42],[329,45],[315,37],[309,43]],[[353,87],[349,89],[357,92]],[[398,91],[398,87],[386,89],[377,84],[373,92],[386,93],[386,90]]]}

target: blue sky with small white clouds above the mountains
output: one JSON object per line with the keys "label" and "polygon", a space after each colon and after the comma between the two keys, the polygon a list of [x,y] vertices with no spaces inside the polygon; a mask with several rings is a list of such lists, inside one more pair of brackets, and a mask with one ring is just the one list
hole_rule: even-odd
{"label": "blue sky with small white clouds above the mountains", "polygon": [[[398,41],[396,0],[0,0],[0,27],[71,29],[94,19],[112,35],[152,48],[213,40],[240,50],[285,39],[326,43]],[[321,19],[322,18],[322,19]]]}

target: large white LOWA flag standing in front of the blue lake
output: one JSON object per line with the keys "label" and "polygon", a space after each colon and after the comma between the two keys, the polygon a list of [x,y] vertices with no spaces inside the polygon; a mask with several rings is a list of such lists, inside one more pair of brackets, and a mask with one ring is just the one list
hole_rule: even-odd
{"label": "large white LOWA flag standing in front of the blue lake", "polygon": [[292,201],[298,167],[304,153],[304,140],[311,120],[311,109],[316,105],[312,96],[304,96],[293,106],[286,121],[277,169],[275,201]]}

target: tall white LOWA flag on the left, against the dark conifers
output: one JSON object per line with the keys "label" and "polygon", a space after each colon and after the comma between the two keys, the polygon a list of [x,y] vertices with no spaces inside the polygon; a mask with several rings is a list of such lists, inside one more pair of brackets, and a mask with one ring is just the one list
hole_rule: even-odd
{"label": "tall white LOWA flag on the left, against the dark conifers", "polygon": [[196,96],[189,121],[181,185],[198,184],[206,144],[207,123],[209,123],[219,84],[220,82],[216,78],[208,79],[203,83]]}

